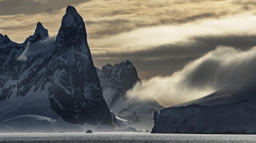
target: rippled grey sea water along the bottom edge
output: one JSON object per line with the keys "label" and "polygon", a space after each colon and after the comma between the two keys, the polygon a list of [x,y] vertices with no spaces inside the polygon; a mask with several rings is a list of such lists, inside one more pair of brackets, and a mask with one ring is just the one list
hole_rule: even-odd
{"label": "rippled grey sea water along the bottom edge", "polygon": [[256,135],[136,132],[0,133],[0,143],[256,143]]}

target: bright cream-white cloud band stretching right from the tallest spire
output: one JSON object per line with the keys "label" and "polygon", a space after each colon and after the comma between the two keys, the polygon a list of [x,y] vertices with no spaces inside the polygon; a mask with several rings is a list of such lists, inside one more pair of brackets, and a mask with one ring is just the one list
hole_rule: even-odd
{"label": "bright cream-white cloud band stretching right from the tallest spire", "polygon": [[[160,45],[179,43],[190,45],[198,36],[255,35],[256,16],[239,14],[221,19],[204,19],[180,25],[145,27],[115,36],[90,40],[92,52],[133,52]],[[105,47],[105,46],[108,47]]]}

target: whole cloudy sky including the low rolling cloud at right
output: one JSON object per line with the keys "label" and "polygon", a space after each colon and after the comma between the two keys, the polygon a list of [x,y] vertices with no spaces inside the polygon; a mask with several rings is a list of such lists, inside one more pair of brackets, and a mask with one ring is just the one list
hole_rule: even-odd
{"label": "whole cloudy sky including the low rolling cloud at right", "polygon": [[[152,94],[165,106],[220,89],[238,76],[222,80],[230,66],[239,69],[226,58],[255,52],[255,0],[0,0],[0,33],[22,43],[41,22],[56,36],[67,5],[84,19],[94,65],[130,60],[144,85],[129,95]],[[213,79],[211,64],[219,69]],[[151,91],[162,87],[164,93]]]}

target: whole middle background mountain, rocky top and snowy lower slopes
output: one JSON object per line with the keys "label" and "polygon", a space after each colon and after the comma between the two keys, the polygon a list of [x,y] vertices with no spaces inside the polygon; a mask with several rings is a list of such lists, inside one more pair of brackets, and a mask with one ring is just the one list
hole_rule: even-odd
{"label": "whole middle background mountain, rocky top and snowy lower slopes", "polygon": [[155,100],[142,101],[125,95],[135,83],[141,82],[133,63],[127,60],[115,65],[107,64],[97,72],[109,109],[118,118],[133,123],[137,129],[151,130],[153,113],[164,107]]}

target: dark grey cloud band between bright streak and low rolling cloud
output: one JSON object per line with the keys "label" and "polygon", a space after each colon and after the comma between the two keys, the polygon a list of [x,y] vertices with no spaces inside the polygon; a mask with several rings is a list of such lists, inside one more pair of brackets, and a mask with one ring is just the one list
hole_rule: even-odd
{"label": "dark grey cloud band between bright streak and low rolling cloud", "polygon": [[163,45],[145,51],[92,54],[92,56],[97,67],[130,60],[135,64],[140,78],[143,79],[157,75],[171,75],[219,45],[236,47],[242,51],[256,45],[256,36],[208,36],[193,39],[196,42],[190,45]]}

